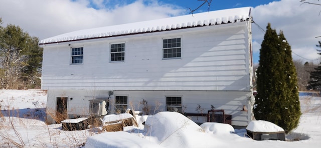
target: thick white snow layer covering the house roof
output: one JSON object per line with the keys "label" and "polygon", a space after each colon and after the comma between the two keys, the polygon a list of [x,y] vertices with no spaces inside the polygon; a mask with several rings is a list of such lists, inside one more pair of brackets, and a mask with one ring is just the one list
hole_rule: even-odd
{"label": "thick white snow layer covering the house roof", "polygon": [[39,41],[39,44],[239,22],[247,20],[250,17],[250,8],[251,7],[231,8],[148,21],[83,29],[42,39]]}

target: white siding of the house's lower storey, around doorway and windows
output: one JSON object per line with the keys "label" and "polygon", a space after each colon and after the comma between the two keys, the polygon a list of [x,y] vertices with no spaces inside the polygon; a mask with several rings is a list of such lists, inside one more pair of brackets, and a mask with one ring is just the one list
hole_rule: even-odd
{"label": "white siding of the house's lower storey, around doorway and windows", "polygon": [[[70,118],[76,116],[89,115],[89,99],[92,98],[108,98],[109,90],[49,90],[50,95],[47,99],[48,112],[55,112],[55,104],[57,104],[56,97],[68,97],[68,115]],[[198,105],[204,110],[202,113],[206,114],[211,110],[211,105],[215,109],[224,109],[225,114],[232,115],[232,125],[245,126],[250,120],[247,111],[242,111],[243,106],[248,108],[249,96],[251,92],[247,91],[163,91],[163,90],[114,90],[110,98],[109,114],[115,113],[114,102],[116,95],[128,96],[128,108],[133,110],[142,110],[142,99],[148,101],[150,105],[150,114],[159,111],[166,111],[166,96],[181,96],[183,110],[186,113],[201,113],[196,110]],[[73,99],[70,99],[73,98]],[[250,108],[249,108],[250,109]],[[50,119],[50,116],[47,116]],[[194,117],[196,122],[205,122],[202,117]]]}

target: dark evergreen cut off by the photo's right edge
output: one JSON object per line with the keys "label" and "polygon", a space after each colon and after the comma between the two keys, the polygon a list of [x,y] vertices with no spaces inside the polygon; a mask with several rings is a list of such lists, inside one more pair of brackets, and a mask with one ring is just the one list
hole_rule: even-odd
{"label": "dark evergreen cut off by the photo's right edge", "polygon": [[[316,45],[318,47],[321,47],[321,41],[319,41],[319,45]],[[321,50],[318,54],[321,54]],[[308,90],[321,90],[321,62],[319,66],[314,68],[314,71],[310,71],[310,80],[307,82],[306,89]]]}

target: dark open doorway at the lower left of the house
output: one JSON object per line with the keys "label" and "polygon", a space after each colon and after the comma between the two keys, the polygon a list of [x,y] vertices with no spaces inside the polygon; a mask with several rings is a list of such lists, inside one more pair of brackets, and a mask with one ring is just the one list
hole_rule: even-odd
{"label": "dark open doorway at the lower left of the house", "polygon": [[67,98],[68,97],[57,97],[56,123],[60,123],[67,118]]}

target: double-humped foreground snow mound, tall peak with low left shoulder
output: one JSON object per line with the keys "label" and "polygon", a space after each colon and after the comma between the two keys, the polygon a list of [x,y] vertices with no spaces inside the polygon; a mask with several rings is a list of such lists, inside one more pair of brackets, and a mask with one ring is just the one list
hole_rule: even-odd
{"label": "double-humped foreground snow mound, tall peak with low left shoulder", "polygon": [[90,136],[85,147],[211,147],[209,141],[215,141],[213,134],[181,113],[165,111],[146,117],[144,130],[100,133]]}

